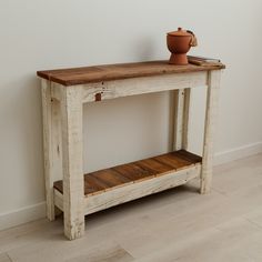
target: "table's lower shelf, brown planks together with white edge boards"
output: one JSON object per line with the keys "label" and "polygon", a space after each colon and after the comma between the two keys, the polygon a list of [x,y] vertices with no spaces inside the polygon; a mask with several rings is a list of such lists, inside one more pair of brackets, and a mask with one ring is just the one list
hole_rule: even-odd
{"label": "table's lower shelf, brown planks together with white edge boards", "polygon": [[[85,214],[187,183],[200,175],[202,158],[184,150],[84,174]],[[62,181],[54,203],[63,209]]]}

